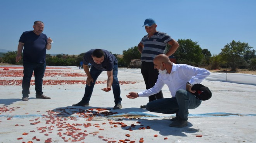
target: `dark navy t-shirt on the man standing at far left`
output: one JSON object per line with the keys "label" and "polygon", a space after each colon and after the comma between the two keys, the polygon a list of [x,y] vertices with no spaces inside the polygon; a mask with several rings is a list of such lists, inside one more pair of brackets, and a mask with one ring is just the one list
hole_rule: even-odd
{"label": "dark navy t-shirt on the man standing at far left", "polygon": [[24,43],[23,61],[45,63],[47,36],[36,35],[33,31],[22,33],[19,42]]}

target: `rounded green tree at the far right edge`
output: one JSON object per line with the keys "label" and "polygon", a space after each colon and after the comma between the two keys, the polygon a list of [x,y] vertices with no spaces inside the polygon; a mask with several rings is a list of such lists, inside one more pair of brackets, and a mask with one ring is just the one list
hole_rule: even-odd
{"label": "rounded green tree at the far right edge", "polygon": [[253,53],[251,48],[248,43],[233,40],[221,49],[221,60],[231,68],[231,71],[236,71],[239,65],[244,64],[244,57],[247,57],[246,55],[248,55],[248,53]]}

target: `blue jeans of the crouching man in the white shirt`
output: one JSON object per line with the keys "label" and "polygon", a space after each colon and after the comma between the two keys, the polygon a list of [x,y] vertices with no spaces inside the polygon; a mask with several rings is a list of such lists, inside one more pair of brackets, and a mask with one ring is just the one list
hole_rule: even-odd
{"label": "blue jeans of the crouching man in the white shirt", "polygon": [[197,108],[202,100],[199,100],[187,90],[180,89],[176,92],[176,97],[157,99],[147,104],[146,109],[150,112],[163,114],[175,114],[182,120],[188,120],[189,109]]}

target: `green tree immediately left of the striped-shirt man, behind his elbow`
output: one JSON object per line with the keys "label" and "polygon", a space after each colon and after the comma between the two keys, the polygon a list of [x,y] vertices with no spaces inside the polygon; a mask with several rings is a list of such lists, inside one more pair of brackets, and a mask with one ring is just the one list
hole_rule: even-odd
{"label": "green tree immediately left of the striped-shirt man, behind his elbow", "polygon": [[138,51],[138,46],[134,46],[132,48],[129,48],[127,51],[123,51],[123,61],[126,66],[128,66],[131,63],[131,60],[133,59],[140,59],[140,52]]}

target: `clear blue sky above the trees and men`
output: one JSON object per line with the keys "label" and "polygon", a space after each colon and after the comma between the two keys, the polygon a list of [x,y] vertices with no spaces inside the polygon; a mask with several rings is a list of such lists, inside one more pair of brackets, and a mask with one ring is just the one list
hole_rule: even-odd
{"label": "clear blue sky above the trees and men", "polygon": [[191,39],[211,54],[232,40],[256,49],[256,0],[0,0],[0,49],[17,50],[22,32],[41,20],[54,41],[47,54],[137,46],[144,20],[178,39]]}

